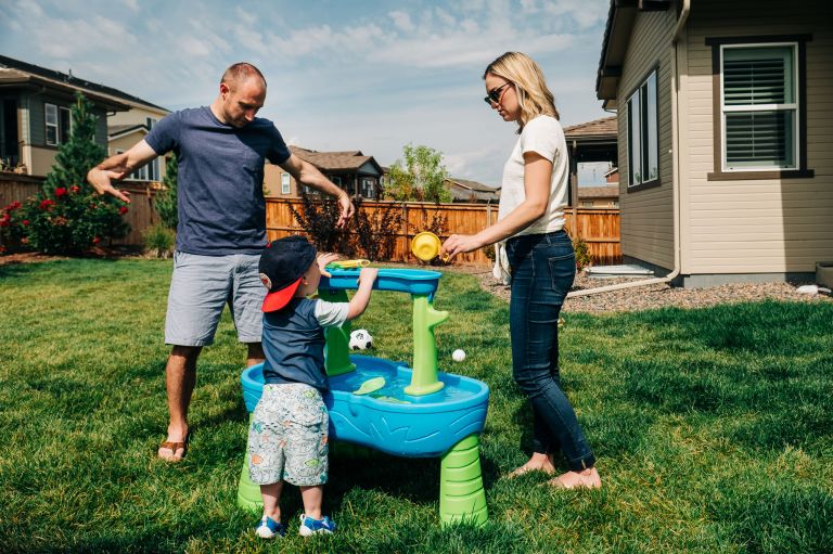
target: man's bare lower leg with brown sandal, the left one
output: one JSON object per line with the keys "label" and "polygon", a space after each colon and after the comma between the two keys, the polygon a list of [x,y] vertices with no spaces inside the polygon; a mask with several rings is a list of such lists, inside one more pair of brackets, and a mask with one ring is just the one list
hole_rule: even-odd
{"label": "man's bare lower leg with brown sandal, the left one", "polygon": [[168,445],[163,443],[157,455],[168,462],[178,462],[185,454],[188,407],[196,384],[196,359],[202,349],[201,346],[175,346],[165,368],[170,422],[166,439]]}

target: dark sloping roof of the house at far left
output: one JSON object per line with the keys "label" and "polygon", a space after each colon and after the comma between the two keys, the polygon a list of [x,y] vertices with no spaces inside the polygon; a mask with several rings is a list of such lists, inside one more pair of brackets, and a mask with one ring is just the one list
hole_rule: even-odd
{"label": "dark sloping roof of the house at far left", "polygon": [[107,104],[108,107],[114,107],[120,111],[129,109],[130,106],[144,106],[165,113],[169,112],[162,106],[157,106],[156,104],[152,104],[138,96],[114,89],[113,87],[106,87],[104,85],[80,79],[72,74],[48,69],[21,60],[0,55],[0,86],[2,86],[2,83],[11,85],[26,82],[47,85],[69,92],[78,90],[99,103]]}

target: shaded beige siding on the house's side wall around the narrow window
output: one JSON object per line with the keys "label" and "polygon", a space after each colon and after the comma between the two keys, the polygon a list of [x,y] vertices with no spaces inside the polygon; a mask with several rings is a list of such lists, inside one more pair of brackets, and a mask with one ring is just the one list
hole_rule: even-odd
{"label": "shaded beige siding on the house's side wall around the narrow window", "polygon": [[[637,14],[617,92],[623,255],[669,269],[674,267],[669,46],[675,23],[674,10]],[[657,69],[659,184],[629,191],[626,102],[653,68]]]}

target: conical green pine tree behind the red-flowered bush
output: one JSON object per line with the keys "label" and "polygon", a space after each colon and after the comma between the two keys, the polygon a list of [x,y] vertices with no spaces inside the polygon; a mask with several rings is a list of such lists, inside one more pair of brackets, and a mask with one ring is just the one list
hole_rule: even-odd
{"label": "conical green pine tree behind the red-flowered bush", "polygon": [[43,191],[52,195],[55,189],[80,186],[85,194],[92,192],[92,185],[87,182],[87,171],[101,163],[106,156],[106,150],[95,142],[95,121],[92,114],[92,103],[80,92],[75,93],[75,104],[72,107],[73,127],[69,140],[61,145],[55,155]]}

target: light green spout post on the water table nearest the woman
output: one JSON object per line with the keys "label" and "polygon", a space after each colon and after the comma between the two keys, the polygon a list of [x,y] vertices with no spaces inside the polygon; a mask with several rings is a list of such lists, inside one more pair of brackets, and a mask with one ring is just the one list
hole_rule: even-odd
{"label": "light green spout post on the water table nearest the woman", "polygon": [[437,379],[437,343],[434,327],[448,319],[447,311],[437,311],[427,295],[413,295],[413,374],[405,394],[424,396],[443,389]]}

